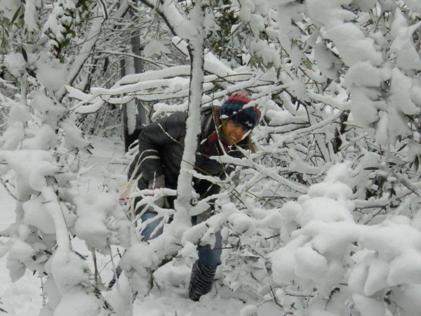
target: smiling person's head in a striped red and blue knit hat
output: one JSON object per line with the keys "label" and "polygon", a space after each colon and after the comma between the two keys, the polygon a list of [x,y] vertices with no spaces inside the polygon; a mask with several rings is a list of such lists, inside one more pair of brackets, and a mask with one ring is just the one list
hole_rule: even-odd
{"label": "smiling person's head in a striped red and blue knit hat", "polygon": [[258,107],[247,107],[250,103],[248,96],[246,91],[239,91],[221,106],[222,131],[228,145],[240,143],[259,122]]}

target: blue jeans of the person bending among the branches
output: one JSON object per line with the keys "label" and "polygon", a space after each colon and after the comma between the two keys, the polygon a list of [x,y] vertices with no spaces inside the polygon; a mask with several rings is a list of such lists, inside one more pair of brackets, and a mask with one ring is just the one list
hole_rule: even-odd
{"label": "blue jeans of the person bending among the branches", "polygon": [[[154,218],[156,216],[156,213],[146,211],[140,218],[142,219],[142,222],[145,222],[145,220],[148,220],[149,218]],[[161,222],[161,218],[154,220],[152,223],[149,223],[146,225],[145,229],[142,230],[141,234],[143,236],[143,240],[149,240],[153,239],[159,235],[162,234],[163,228],[159,228],[159,230],[156,232],[156,234],[151,238],[152,232],[155,230],[155,228],[159,225]],[[196,218],[192,218],[192,224],[196,225]],[[221,264],[221,254],[222,254],[222,235],[220,231],[215,233],[215,249],[210,249],[209,245],[206,246],[199,246],[199,263],[203,265],[210,265],[212,267],[215,267],[217,265]]]}

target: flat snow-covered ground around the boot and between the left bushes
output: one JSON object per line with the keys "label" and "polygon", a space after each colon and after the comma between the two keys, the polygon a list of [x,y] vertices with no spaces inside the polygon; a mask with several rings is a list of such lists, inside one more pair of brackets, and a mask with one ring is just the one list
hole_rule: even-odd
{"label": "flat snow-covered ground around the boot and between the left bushes", "polygon": [[[86,167],[93,166],[83,174],[79,180],[78,187],[81,192],[98,190],[101,187],[104,174],[123,173],[125,165],[110,163],[123,157],[123,142],[119,138],[99,138],[92,139],[95,149],[93,156],[88,157]],[[3,230],[13,223],[15,216],[15,201],[0,186],[0,230]],[[90,253],[84,243],[78,240],[72,242],[74,249],[80,254]],[[13,316],[34,316],[39,315],[43,298],[41,296],[41,279],[32,275],[27,270],[25,275],[16,282],[11,282],[6,268],[6,256],[0,258],[0,299],[7,315]],[[90,260],[90,259],[88,259]],[[90,260],[91,261],[91,260]],[[98,268],[102,282],[107,284],[112,276],[112,265],[109,256],[98,258]],[[90,263],[93,265],[93,263]],[[164,265],[154,274],[158,286],[154,286],[149,296],[137,298],[133,305],[133,315],[148,316],[220,316],[220,315],[253,315],[250,312],[255,310],[258,302],[253,294],[247,291],[236,291],[233,293],[222,284],[222,278],[215,282],[215,286],[210,294],[203,296],[201,301],[193,302],[187,298],[187,287],[189,282],[190,268],[187,266],[175,267],[171,263]],[[217,274],[218,277],[218,274]],[[109,293],[104,294],[105,297]],[[258,315],[275,315],[279,312],[273,302],[268,301],[258,306]],[[2,312],[0,312],[1,315]],[[5,314],[6,315],[6,314]],[[63,315],[65,316],[65,315]]]}

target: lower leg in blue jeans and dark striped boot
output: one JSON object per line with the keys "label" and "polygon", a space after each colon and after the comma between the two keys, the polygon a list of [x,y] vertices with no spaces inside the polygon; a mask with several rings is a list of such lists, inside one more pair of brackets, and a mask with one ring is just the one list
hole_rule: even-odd
{"label": "lower leg in blue jeans and dark striped boot", "polygon": [[189,283],[189,298],[192,301],[199,301],[202,295],[210,292],[216,268],[221,264],[222,236],[220,232],[216,232],[215,237],[214,249],[210,249],[208,245],[203,246],[198,253],[199,259],[192,267]]}

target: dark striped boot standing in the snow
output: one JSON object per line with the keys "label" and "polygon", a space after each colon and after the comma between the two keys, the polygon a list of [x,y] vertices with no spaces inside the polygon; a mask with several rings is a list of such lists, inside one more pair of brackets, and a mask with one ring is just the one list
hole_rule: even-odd
{"label": "dark striped boot standing in the snow", "polygon": [[216,267],[203,265],[199,261],[194,263],[189,284],[189,298],[192,301],[199,301],[202,295],[210,292],[215,272]]}

